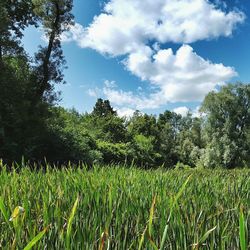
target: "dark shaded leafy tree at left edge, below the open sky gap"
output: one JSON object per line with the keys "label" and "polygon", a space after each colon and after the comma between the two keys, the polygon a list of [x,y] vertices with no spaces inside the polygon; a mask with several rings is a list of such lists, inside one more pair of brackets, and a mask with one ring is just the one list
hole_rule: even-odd
{"label": "dark shaded leafy tree at left edge, below the open sky gap", "polygon": [[41,101],[32,105],[36,81],[25,55],[5,56],[4,69],[0,71],[0,154],[10,160],[22,155],[33,158],[48,105]]}

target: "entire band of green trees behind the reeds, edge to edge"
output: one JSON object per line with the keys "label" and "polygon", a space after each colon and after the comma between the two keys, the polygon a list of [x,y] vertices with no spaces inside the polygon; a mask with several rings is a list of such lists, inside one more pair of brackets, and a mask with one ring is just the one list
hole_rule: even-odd
{"label": "entire band of green trees behind the reeds, edge to edge", "polygon": [[[73,24],[72,0],[0,3],[0,158],[7,162],[127,163],[151,168],[250,166],[250,85],[209,93],[201,116],[136,111],[121,118],[108,100],[91,113],[57,107],[63,83],[60,35]],[[21,44],[28,26],[42,27],[47,45],[34,56]]]}

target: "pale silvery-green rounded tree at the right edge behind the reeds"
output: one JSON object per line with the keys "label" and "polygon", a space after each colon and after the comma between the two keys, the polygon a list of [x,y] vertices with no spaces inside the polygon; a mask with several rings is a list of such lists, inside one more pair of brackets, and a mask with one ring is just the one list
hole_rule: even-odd
{"label": "pale silvery-green rounded tree at the right edge behind the reeds", "polygon": [[206,114],[203,164],[226,168],[250,164],[250,85],[230,84],[209,93],[202,111]]}

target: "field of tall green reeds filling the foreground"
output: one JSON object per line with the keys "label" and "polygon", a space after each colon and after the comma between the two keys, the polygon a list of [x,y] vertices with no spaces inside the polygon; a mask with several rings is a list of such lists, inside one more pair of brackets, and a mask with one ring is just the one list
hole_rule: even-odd
{"label": "field of tall green reeds filling the foreground", "polygon": [[[250,243],[247,169],[0,167],[0,249],[24,249],[40,232],[34,249],[247,249]],[[24,211],[12,214],[17,206]]]}

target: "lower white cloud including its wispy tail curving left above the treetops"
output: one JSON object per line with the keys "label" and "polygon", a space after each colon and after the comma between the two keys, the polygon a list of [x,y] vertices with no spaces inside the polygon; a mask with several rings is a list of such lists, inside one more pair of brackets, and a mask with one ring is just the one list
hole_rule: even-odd
{"label": "lower white cloud including its wispy tail curving left above the treetops", "polygon": [[115,89],[116,83],[106,80],[103,95],[115,105],[139,110],[159,108],[169,102],[202,101],[208,92],[237,75],[232,67],[213,64],[198,56],[189,45],[180,47],[176,54],[172,49],[153,54],[145,47],[130,54],[124,63],[134,75],[153,84],[154,92],[134,94]]}

